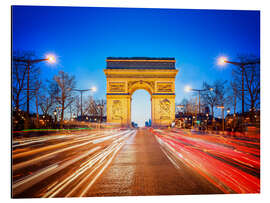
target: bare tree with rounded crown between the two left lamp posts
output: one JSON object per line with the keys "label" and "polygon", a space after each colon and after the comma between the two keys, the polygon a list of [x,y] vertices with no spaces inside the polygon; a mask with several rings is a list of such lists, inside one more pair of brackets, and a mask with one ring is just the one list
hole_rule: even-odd
{"label": "bare tree with rounded crown between the two left lamp posts", "polygon": [[60,124],[62,128],[65,109],[74,101],[75,77],[70,76],[64,71],[59,71],[58,75],[53,78],[51,88],[51,91],[54,92],[55,100],[61,108]]}

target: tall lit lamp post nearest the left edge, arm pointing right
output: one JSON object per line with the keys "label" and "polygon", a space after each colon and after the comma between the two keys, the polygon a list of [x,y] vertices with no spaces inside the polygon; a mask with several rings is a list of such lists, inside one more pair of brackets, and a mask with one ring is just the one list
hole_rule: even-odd
{"label": "tall lit lamp post nearest the left edge, arm pointing right", "polygon": [[30,67],[35,64],[35,63],[39,63],[42,61],[48,61],[49,63],[55,63],[55,57],[53,55],[48,55],[46,58],[44,59],[20,59],[20,58],[13,58],[13,61],[15,62],[22,62],[26,64],[27,67],[27,94],[26,94],[26,128],[29,127],[29,111],[30,111],[30,105],[29,105],[29,100],[30,100]]}

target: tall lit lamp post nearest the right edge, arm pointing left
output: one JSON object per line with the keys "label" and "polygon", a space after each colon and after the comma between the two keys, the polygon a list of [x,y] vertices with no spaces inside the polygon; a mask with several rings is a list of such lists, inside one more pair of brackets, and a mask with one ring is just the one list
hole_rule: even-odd
{"label": "tall lit lamp post nearest the right edge, arm pointing left", "polygon": [[235,66],[240,67],[241,70],[241,92],[242,92],[242,130],[243,130],[243,124],[244,124],[244,112],[245,112],[245,89],[244,89],[244,71],[246,65],[254,65],[254,64],[260,64],[260,61],[250,61],[250,62],[233,62],[228,61],[226,57],[220,57],[218,59],[218,65],[225,65],[226,63],[233,64]]}

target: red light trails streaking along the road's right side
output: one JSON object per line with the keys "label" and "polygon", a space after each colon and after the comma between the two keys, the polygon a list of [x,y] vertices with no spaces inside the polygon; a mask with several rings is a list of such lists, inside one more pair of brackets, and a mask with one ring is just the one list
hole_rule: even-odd
{"label": "red light trails streaking along the road's right side", "polygon": [[[240,140],[239,144],[231,138],[187,134],[180,130],[151,132],[174,165],[174,159],[179,160],[224,193],[260,192],[260,158],[256,156],[259,153],[254,155],[255,150],[245,147],[245,142]],[[257,143],[252,144],[256,149]]]}

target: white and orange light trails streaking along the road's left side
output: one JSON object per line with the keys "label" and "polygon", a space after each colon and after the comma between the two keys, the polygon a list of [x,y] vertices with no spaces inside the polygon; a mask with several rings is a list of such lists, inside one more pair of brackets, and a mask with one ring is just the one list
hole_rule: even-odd
{"label": "white and orange light trails streaking along the road's left side", "polygon": [[[18,175],[20,177],[16,181],[13,180],[13,196],[20,195],[34,185],[42,184],[44,180],[49,181],[50,177],[63,170],[66,172],[60,175],[57,181],[52,179],[53,181],[47,183],[46,188],[37,191],[36,196],[83,196],[110,165],[125,141],[134,134],[136,131],[130,129],[104,130],[92,134],[26,138],[22,139],[22,142],[16,140],[13,146],[14,151],[17,147],[24,149],[23,147],[30,146],[32,148],[35,144],[43,142],[47,146],[32,150],[26,148],[26,151],[13,154],[13,162],[18,160],[16,161],[18,163],[12,166],[13,177]],[[56,140],[60,143],[54,144]],[[40,153],[42,154],[39,155]],[[21,173],[30,166],[35,167],[30,169],[29,175],[25,176]],[[73,186],[72,190],[67,189],[74,184],[75,187]],[[77,190],[80,192],[78,193]]]}

